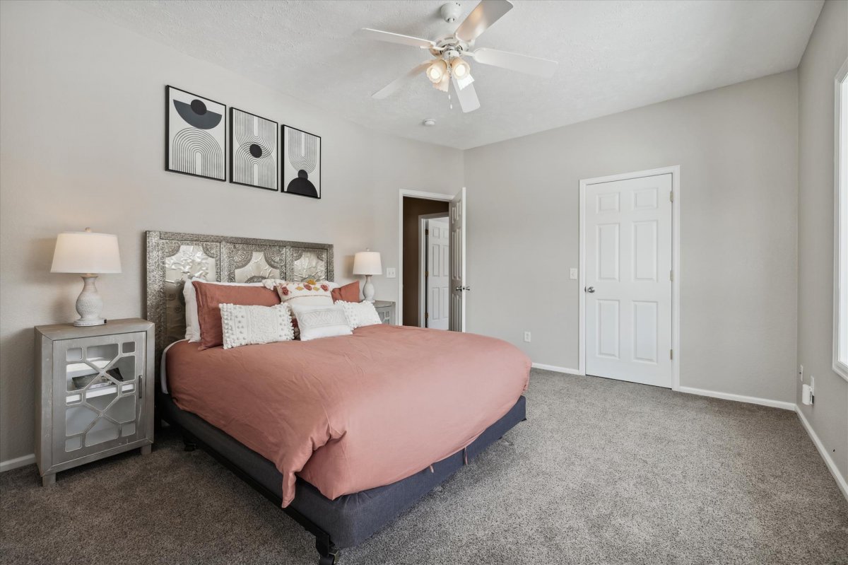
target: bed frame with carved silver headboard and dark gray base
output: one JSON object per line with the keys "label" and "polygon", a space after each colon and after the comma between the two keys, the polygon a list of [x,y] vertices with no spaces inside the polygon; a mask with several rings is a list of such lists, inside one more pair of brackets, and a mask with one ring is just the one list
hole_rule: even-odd
{"label": "bed frame with carved silver headboard and dark gray base", "polygon": [[[163,419],[180,428],[186,450],[201,447],[259,493],[282,506],[282,474],[272,462],[202,418],[180,410],[159,386],[163,350],[185,337],[182,286],[191,277],[221,282],[253,282],[262,278],[332,280],[332,245],[147,232],[147,316],[156,324],[157,421]],[[522,396],[466,450],[396,483],[343,495],[334,501],[298,478],[294,501],[282,511],[315,535],[319,564],[333,565],[340,548],[365,541],[525,419],[526,404]]]}

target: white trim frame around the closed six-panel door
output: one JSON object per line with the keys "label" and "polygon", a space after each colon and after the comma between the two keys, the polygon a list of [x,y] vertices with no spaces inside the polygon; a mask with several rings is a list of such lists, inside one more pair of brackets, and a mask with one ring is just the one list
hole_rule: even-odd
{"label": "white trim frame around the closed six-panel door", "polygon": [[586,294],[583,288],[586,286],[586,187],[590,184],[601,182],[625,181],[644,176],[672,175],[672,192],[674,202],[672,203],[672,390],[680,389],[680,165],[649,169],[647,171],[635,171],[620,173],[610,176],[595,176],[594,178],[580,179],[580,267],[577,286],[577,334],[578,338],[578,370],[581,375],[586,374]]}

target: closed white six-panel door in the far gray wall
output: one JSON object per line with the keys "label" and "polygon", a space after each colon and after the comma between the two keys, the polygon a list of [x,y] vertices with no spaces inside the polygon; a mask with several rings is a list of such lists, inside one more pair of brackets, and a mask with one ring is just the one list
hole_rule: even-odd
{"label": "closed white six-panel door in the far gray wall", "polygon": [[672,386],[672,174],[588,184],[586,374]]}

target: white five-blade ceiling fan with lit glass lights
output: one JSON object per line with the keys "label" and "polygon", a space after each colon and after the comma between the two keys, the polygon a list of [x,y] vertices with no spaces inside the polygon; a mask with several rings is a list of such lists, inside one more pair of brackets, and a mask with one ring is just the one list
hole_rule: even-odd
{"label": "white five-blade ceiling fan with lit glass lights", "polygon": [[[553,76],[556,70],[556,61],[498,51],[497,49],[474,49],[474,42],[477,37],[481,36],[483,31],[488,30],[494,22],[500,20],[510,9],[512,9],[512,3],[508,0],[482,0],[476,8],[471,10],[471,14],[468,14],[466,20],[456,28],[453,35],[440,37],[436,41],[404,36],[391,31],[361,29],[357,32],[359,36],[381,42],[400,43],[401,45],[427,49],[432,55],[432,59],[427,59],[416,65],[404,76],[400,76],[371,94],[371,98],[382,100],[382,98],[386,98],[396,91],[404,81],[424,72],[432,82],[432,86],[442,92],[448,92],[448,96],[450,96],[450,86],[453,85],[462,111],[472,112],[480,108],[480,101],[477,99],[474,85],[471,84],[474,79],[471,77],[471,65],[464,59],[466,57],[474,59],[475,63],[517,70],[528,75]],[[460,5],[455,2],[446,3],[440,9],[440,14],[445,21],[453,23],[460,16]]]}

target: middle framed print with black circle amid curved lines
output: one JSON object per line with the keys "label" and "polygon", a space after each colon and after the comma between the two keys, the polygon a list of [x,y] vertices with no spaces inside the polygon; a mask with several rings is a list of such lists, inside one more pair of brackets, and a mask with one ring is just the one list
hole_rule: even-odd
{"label": "middle framed print with black circle amid curved lines", "polygon": [[276,121],[230,109],[230,182],[277,190]]}

